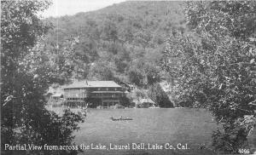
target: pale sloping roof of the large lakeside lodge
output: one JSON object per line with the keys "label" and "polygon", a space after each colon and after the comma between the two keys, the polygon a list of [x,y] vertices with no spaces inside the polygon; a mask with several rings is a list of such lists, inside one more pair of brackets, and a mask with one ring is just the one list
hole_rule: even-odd
{"label": "pale sloping roof of the large lakeside lodge", "polygon": [[95,88],[95,87],[113,87],[121,88],[121,86],[113,81],[75,81],[70,85],[67,85],[64,89],[67,88]]}

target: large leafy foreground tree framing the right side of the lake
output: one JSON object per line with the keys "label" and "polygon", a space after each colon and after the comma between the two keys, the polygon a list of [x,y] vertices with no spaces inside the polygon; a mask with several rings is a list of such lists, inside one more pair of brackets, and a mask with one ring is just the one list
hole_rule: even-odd
{"label": "large leafy foreground tree framing the right side of the lake", "polygon": [[192,2],[189,37],[171,37],[162,66],[176,80],[177,97],[207,107],[222,126],[216,150],[239,153],[255,124],[255,2]]}

